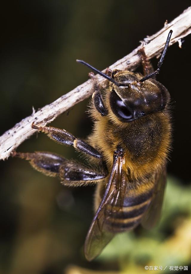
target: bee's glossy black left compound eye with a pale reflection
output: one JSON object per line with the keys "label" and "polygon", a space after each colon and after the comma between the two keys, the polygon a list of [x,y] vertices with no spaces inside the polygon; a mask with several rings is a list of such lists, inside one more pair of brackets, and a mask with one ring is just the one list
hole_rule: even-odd
{"label": "bee's glossy black left compound eye with a pale reflection", "polygon": [[124,104],[114,90],[110,94],[110,106],[111,110],[120,121],[127,123],[133,120],[132,111]]}

